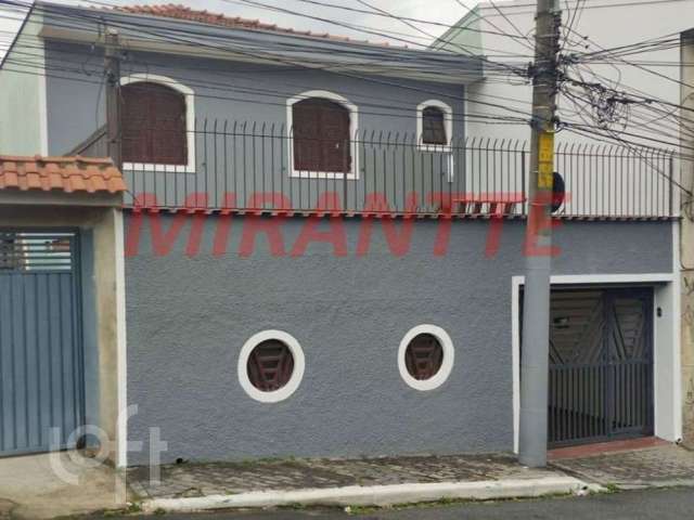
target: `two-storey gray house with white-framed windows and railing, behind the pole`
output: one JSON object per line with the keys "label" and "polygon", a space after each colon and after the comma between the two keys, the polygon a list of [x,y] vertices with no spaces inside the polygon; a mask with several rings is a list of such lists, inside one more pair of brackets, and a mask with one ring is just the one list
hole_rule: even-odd
{"label": "two-storey gray house with white-framed windows and railing, behind the pole", "polygon": [[[5,107],[0,152],[106,154],[106,29],[128,439],[160,428],[166,461],[513,450],[527,128],[471,132],[489,65],[182,8],[39,2],[0,70],[23,106]],[[15,117],[30,121],[13,135]],[[654,174],[671,156],[561,151],[552,445],[677,440],[677,205]]]}

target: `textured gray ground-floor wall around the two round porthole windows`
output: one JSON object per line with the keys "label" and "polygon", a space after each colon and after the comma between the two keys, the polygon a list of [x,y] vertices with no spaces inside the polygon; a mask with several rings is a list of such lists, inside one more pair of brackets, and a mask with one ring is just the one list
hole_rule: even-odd
{"label": "textured gray ground-floor wall around the two round porthole windows", "polygon": [[[169,229],[174,218],[160,219]],[[433,255],[437,221],[414,223],[402,257],[390,255],[378,223],[370,253],[357,257],[362,221],[338,221],[349,246],[340,258],[318,243],[299,258],[272,257],[264,237],[242,258],[243,218],[232,219],[228,252],[214,256],[215,217],[204,221],[200,253],[188,257],[192,222],[166,256],[152,252],[145,224],[139,255],[126,261],[128,401],[139,406],[130,440],[160,427],[165,460],[512,448],[511,276],[523,272],[520,222],[504,223],[491,259],[481,221],[453,222],[442,257]],[[287,250],[306,222],[282,224]],[[127,224],[131,232],[132,217]],[[670,237],[669,223],[565,223],[554,272],[668,272]],[[422,323],[444,327],[455,347],[450,378],[430,392],[410,389],[396,363],[400,339]],[[295,336],[306,354],[299,389],[278,404],[252,400],[236,379],[241,347],[268,328]]]}

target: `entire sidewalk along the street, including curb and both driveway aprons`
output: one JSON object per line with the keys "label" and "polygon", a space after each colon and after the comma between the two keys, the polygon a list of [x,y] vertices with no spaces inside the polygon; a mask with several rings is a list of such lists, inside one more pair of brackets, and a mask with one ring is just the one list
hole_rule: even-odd
{"label": "entire sidewalk along the street, including curb and both driveway aprons", "polygon": [[[694,486],[694,452],[663,441],[565,448],[547,469],[511,454],[284,459],[163,466],[127,472],[132,510],[391,506],[446,499]],[[637,445],[638,447],[634,447]],[[618,451],[616,451],[618,450]],[[51,459],[51,457],[57,457]],[[76,452],[0,459],[0,520],[125,510],[121,474]]]}

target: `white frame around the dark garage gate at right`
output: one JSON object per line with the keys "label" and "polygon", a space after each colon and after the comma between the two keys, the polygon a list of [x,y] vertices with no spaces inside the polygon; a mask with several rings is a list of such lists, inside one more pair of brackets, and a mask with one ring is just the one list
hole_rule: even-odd
{"label": "white frame around the dark garage gate at right", "polygon": [[[552,286],[653,288],[653,364],[655,435],[676,442],[682,437],[680,372],[680,302],[672,273],[552,275]],[[511,278],[511,350],[513,380],[513,450],[518,453],[520,427],[520,289],[525,276]],[[660,312],[658,312],[658,310]],[[661,313],[661,316],[658,314]]]}

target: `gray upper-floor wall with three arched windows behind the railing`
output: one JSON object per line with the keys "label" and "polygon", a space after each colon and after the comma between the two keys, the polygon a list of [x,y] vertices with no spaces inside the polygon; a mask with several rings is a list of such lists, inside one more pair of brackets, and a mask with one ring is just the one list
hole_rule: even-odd
{"label": "gray upper-floor wall with three arched windows behind the railing", "polygon": [[[83,153],[76,147],[95,133],[103,144],[101,52],[48,41],[46,63],[61,72],[47,78],[49,153]],[[129,52],[120,67],[124,173],[162,206],[194,194],[220,206],[234,191],[313,208],[329,184],[344,202],[396,182],[402,200],[415,179],[417,191],[450,191],[463,166],[450,150],[465,136],[460,84],[152,52]],[[412,144],[410,185],[391,153],[365,146],[377,141]]]}

